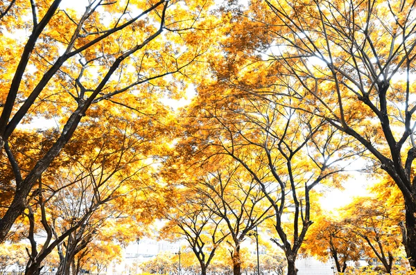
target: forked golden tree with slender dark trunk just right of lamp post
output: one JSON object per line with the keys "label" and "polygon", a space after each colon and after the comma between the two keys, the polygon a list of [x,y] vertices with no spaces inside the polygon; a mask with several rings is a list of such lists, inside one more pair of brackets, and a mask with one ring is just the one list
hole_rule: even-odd
{"label": "forked golden tree with slender dark trunk just right of lamp post", "polygon": [[[198,92],[187,114],[183,144],[189,149],[184,152],[196,159],[193,167],[210,163],[206,170],[211,163],[225,166],[221,157],[239,163],[246,181],[255,184],[272,207],[274,242],[286,255],[288,274],[296,274],[297,252],[312,224],[311,190],[318,184],[337,186],[343,177],[335,175],[361,150],[321,118],[275,104],[291,98],[250,97],[220,81]],[[207,179],[221,186],[228,175],[218,171]]]}

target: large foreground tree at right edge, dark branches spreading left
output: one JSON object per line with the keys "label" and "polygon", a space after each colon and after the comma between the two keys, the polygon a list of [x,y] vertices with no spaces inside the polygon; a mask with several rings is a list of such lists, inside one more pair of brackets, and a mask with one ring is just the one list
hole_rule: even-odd
{"label": "large foreground tree at right edge, dark branches spreading left", "polygon": [[238,29],[252,42],[229,50],[245,69],[221,76],[251,93],[287,94],[291,107],[361,143],[401,190],[416,267],[414,12],[412,1],[252,1]]}

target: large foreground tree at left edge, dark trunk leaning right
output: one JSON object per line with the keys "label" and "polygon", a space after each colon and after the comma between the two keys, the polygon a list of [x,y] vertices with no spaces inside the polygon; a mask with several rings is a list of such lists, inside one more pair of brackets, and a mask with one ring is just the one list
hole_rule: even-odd
{"label": "large foreground tree at left edge, dark trunk leaning right", "polygon": [[[1,216],[0,242],[83,117],[98,122],[105,112],[120,114],[120,107],[146,114],[141,106],[164,94],[161,87],[180,96],[186,86],[184,68],[207,50],[203,43],[207,39],[198,36],[212,30],[215,20],[211,19],[216,18],[207,14],[208,1],[182,5],[164,0],[98,0],[87,3],[83,11],[62,8],[60,2],[8,1],[0,7],[4,30],[0,145],[13,172],[11,186],[6,188],[14,186],[12,201]],[[28,18],[31,22],[25,24],[22,20]],[[25,32],[26,39],[11,35]],[[168,85],[166,76],[180,71],[179,81]],[[37,117],[55,118],[62,126],[56,129],[51,146],[26,170],[21,166],[24,160],[16,157],[20,149],[9,140],[19,123]]]}

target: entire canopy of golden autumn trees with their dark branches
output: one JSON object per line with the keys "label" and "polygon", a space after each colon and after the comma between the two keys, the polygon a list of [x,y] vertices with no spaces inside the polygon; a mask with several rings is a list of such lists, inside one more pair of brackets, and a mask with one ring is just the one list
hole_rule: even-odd
{"label": "entire canopy of golden autumn trees with their dark branches", "polygon": [[[288,275],[304,249],[416,267],[414,8],[3,1],[0,241],[28,240],[26,274],[98,271],[166,219],[202,273],[225,245],[239,275],[256,228]],[[383,187],[331,221],[318,197],[357,161]]]}

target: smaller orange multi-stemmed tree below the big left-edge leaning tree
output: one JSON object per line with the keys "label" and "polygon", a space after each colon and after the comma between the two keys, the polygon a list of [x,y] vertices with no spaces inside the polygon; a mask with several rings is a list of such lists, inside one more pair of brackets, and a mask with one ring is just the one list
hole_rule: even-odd
{"label": "smaller orange multi-stemmed tree below the big left-edge leaning tree", "polygon": [[[157,209],[164,206],[160,201],[159,207],[151,202],[133,210],[131,206],[133,201],[148,200],[141,193],[153,192],[155,182],[149,179],[153,173],[149,166],[150,143],[164,139],[164,135],[155,131],[157,126],[146,133],[138,127],[146,124],[148,118],[137,117],[134,123],[111,115],[105,118],[108,124],[83,125],[81,129],[87,127],[86,132],[98,136],[89,139],[85,134],[76,134],[64,148],[56,170],[47,170],[42,181],[39,180],[33,194],[34,204],[28,205],[27,212],[30,226],[26,236],[32,247],[26,274],[39,273],[42,261],[53,249],[58,249],[60,256],[58,272],[69,274],[70,269],[76,272],[82,256],[88,254],[89,243],[100,240],[102,231],[118,231],[107,240],[123,243],[131,240],[132,233],[137,238],[140,230],[128,232],[123,227],[148,224],[162,215],[157,214]],[[149,209],[153,215],[146,218],[135,213],[136,210],[148,213]],[[107,224],[115,228],[108,229]],[[41,247],[40,239],[36,238],[40,233],[45,236]]]}

